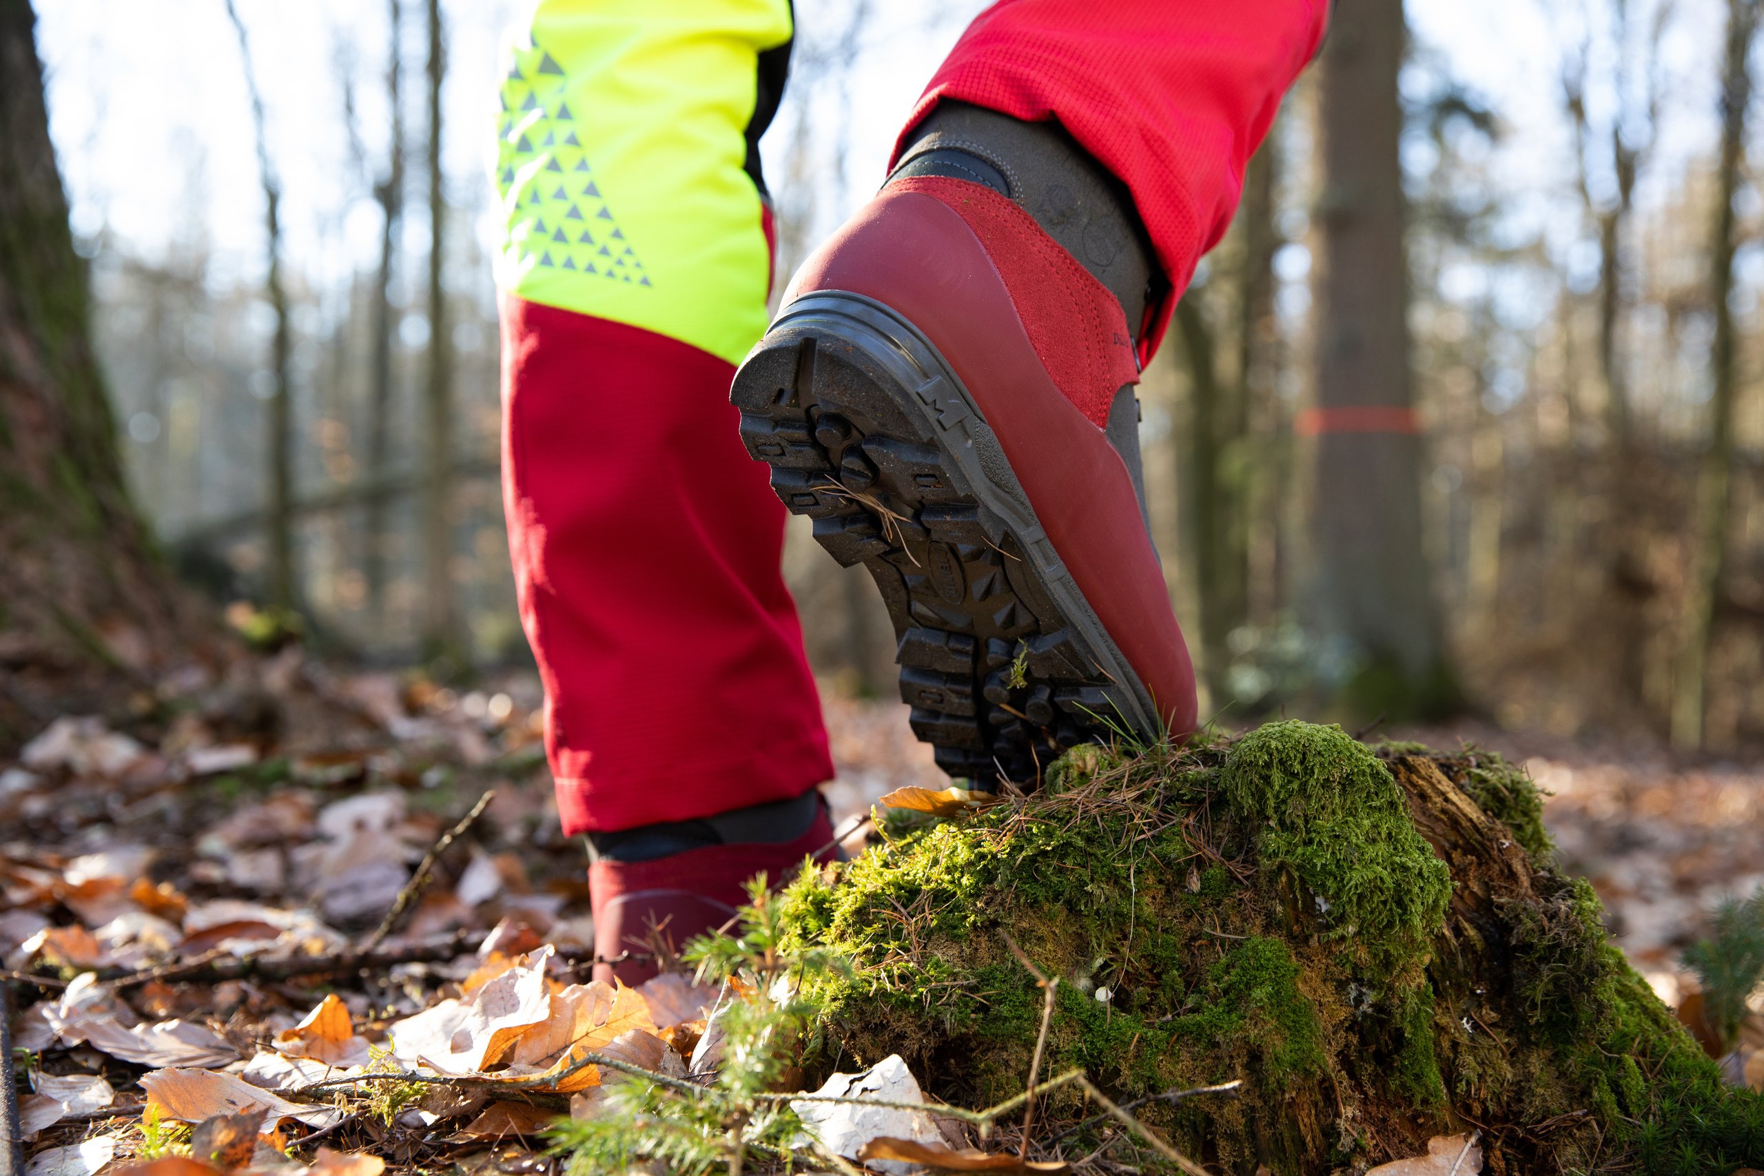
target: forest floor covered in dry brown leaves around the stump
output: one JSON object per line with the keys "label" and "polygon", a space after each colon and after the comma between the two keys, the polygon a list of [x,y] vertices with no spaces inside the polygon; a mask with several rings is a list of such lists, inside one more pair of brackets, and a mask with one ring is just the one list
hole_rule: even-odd
{"label": "forest floor covered in dry brown leaves around the stump", "polygon": [[[586,984],[586,857],[557,830],[533,675],[450,691],[291,651],[168,695],[169,721],[58,719],[0,763],[0,966],[44,977],[12,986],[30,1176],[175,1155],[191,1125],[224,1134],[212,1116],[252,1109],[275,1150],[247,1143],[231,1167],[377,1176],[342,1155],[369,1153],[545,1174],[531,1083],[376,1079],[333,1104],[310,1088],[439,1054],[459,1074],[501,1060],[503,1079],[570,1077],[580,1042],[653,1067],[691,1056],[713,993]],[[829,696],[826,712],[841,827],[891,790],[947,785],[903,705]],[[1392,735],[1526,763],[1554,793],[1563,862],[1669,1003],[1715,901],[1764,882],[1764,762],[1476,725]],[[587,1077],[542,1086],[580,1109]]]}

